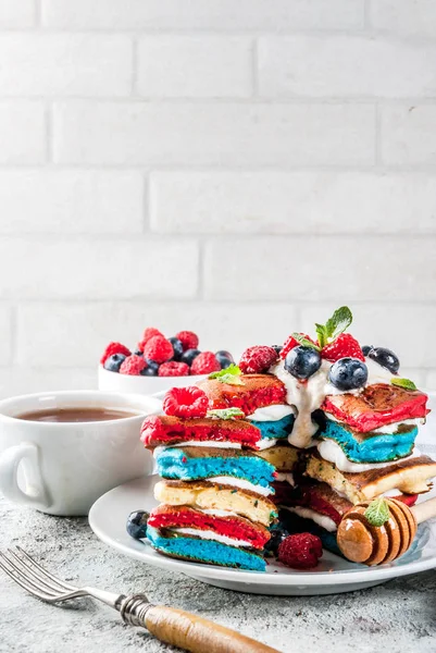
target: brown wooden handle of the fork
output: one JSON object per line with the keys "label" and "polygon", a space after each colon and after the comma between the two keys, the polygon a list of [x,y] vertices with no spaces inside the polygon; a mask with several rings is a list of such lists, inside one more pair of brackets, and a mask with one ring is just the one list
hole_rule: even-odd
{"label": "brown wooden handle of the fork", "polygon": [[149,607],[145,625],[162,642],[189,653],[279,653],[235,630],[164,605]]}

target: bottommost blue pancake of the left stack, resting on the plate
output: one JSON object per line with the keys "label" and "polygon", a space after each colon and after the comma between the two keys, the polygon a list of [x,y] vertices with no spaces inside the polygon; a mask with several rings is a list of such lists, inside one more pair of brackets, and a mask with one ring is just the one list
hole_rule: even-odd
{"label": "bottommost blue pancake of the left stack, resting on the plate", "polygon": [[246,549],[228,546],[214,540],[200,540],[188,535],[164,537],[162,531],[151,526],[147,527],[147,538],[153,549],[160,553],[192,563],[207,563],[253,571],[264,571],[266,568],[262,556],[250,553]]}

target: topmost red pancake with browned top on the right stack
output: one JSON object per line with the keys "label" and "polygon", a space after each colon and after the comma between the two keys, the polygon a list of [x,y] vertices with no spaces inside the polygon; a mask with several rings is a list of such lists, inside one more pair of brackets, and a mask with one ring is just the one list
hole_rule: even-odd
{"label": "topmost red pancake with browned top on the right stack", "polygon": [[361,433],[406,419],[425,417],[427,395],[397,385],[376,383],[360,395],[338,394],[325,397],[322,409]]}

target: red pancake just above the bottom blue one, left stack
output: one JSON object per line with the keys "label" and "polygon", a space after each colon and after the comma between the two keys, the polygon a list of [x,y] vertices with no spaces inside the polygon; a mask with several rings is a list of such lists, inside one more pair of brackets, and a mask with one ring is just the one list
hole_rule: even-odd
{"label": "red pancake just above the bottom blue one, left stack", "polygon": [[[148,522],[153,528],[195,528],[213,531],[234,540],[249,542],[253,549],[263,549],[270,540],[270,531],[260,523],[253,523],[244,517],[215,517],[188,506],[160,505],[153,508]],[[201,537],[201,533],[199,533]]]}

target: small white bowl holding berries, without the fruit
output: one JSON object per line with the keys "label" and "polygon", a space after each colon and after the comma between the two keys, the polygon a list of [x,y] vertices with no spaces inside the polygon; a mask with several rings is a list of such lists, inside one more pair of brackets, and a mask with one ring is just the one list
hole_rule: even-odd
{"label": "small white bowl holding berries, without the fruit", "polygon": [[123,392],[132,394],[154,394],[169,390],[170,387],[186,387],[195,385],[208,374],[195,374],[192,377],[133,377],[110,372],[102,365],[98,369],[99,390],[105,392]]}

